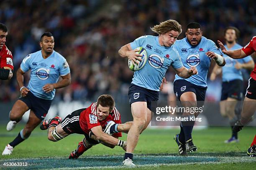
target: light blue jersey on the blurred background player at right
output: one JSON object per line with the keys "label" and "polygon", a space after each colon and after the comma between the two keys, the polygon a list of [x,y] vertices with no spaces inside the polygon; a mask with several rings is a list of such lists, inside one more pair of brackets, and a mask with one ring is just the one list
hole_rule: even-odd
{"label": "light blue jersey on the blurred background player at right", "polygon": [[[227,50],[236,50],[236,49],[241,49],[242,46],[239,44],[235,44],[233,47],[228,48],[227,45],[224,45],[226,47]],[[240,63],[246,63],[249,62],[252,59],[251,56],[247,56],[245,58],[241,58],[241,59],[233,59],[228,57],[228,55],[223,55],[223,57],[225,58],[225,66],[222,67],[222,81],[223,82],[227,82],[227,81],[232,81],[232,80],[243,80],[243,75],[242,75],[242,71],[241,70],[237,70],[235,68],[236,62],[240,62]]]}

